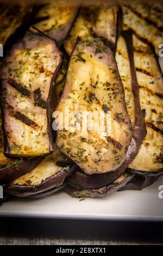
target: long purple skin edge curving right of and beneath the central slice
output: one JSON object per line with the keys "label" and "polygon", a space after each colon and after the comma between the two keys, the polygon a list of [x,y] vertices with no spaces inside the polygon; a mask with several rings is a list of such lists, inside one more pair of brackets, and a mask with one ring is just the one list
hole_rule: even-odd
{"label": "long purple skin edge curving right of and beneath the central slice", "polygon": [[128,164],[132,162],[139,152],[140,145],[146,136],[146,125],[142,115],[140,102],[139,102],[139,85],[137,83],[136,71],[134,65],[133,55],[133,39],[131,31],[122,32],[123,38],[126,41],[128,56],[130,60],[131,77],[132,77],[132,88],[135,95],[135,126],[133,135],[127,150],[125,161],[122,163],[116,171],[112,171],[104,174],[91,174],[86,175],[82,170],[77,170],[73,175],[66,179],[67,184],[74,187],[81,187],[86,189],[95,189],[103,186],[108,186],[118,177],[120,177]]}

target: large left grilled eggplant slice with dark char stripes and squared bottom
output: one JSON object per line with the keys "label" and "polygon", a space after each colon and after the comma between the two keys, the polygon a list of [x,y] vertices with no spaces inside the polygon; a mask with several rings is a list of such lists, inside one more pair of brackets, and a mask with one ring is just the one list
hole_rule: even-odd
{"label": "large left grilled eggplant slice with dark char stripes and squared bottom", "polygon": [[60,61],[55,41],[34,29],[4,58],[1,77],[5,156],[43,156],[53,150],[52,93]]}

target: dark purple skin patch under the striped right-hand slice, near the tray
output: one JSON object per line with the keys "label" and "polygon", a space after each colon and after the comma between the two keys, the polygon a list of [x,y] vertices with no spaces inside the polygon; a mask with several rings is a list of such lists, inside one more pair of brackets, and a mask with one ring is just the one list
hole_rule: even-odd
{"label": "dark purple skin patch under the striped right-hand slice, near the tray", "polygon": [[139,176],[136,175],[124,187],[118,191],[124,190],[142,190],[145,187],[152,185],[159,179],[159,176]]}

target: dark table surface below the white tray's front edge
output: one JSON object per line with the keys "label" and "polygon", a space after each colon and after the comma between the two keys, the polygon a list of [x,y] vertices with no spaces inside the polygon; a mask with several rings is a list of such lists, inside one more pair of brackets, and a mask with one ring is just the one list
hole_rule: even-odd
{"label": "dark table surface below the white tray's front edge", "polygon": [[163,223],[0,218],[0,245],[163,245]]}

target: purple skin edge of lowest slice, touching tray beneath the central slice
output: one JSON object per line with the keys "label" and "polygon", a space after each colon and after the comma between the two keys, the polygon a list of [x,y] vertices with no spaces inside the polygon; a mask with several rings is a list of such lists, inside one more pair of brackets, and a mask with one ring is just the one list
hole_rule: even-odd
{"label": "purple skin edge of lowest slice, touching tray beneath the central slice", "polygon": [[120,190],[121,187],[126,186],[126,184],[133,178],[134,174],[127,174],[126,177],[121,182],[112,182],[112,184],[108,186],[104,186],[101,188],[95,188],[93,190],[87,190],[80,187],[74,187],[71,185],[67,185],[65,187],[65,191],[67,194],[70,194],[72,197],[91,197],[91,198],[98,198],[98,197],[105,197],[109,194]]}

